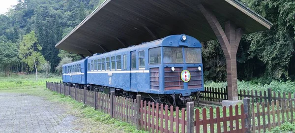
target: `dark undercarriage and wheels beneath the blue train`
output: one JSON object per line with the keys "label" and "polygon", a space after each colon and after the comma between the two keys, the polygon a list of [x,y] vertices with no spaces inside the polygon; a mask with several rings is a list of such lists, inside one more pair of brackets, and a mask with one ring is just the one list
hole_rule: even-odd
{"label": "dark undercarriage and wheels beneath the blue train", "polygon": [[84,89],[87,87],[87,90],[94,91],[94,89],[98,89],[98,92],[111,94],[112,91],[115,91],[116,96],[122,96],[126,98],[136,99],[136,95],[142,95],[142,100],[146,100],[147,102],[154,102],[154,103],[163,103],[167,104],[168,106],[173,105],[174,107],[184,107],[186,102],[189,101],[197,101],[197,105],[199,105],[199,97],[201,95],[200,92],[192,93],[191,96],[182,96],[181,94],[149,94],[149,93],[142,93],[142,92],[130,92],[124,91],[123,89],[119,88],[112,88],[106,86],[99,86],[99,85],[82,85],[82,84],[73,84],[73,83],[64,83],[67,86],[74,86],[79,89]]}

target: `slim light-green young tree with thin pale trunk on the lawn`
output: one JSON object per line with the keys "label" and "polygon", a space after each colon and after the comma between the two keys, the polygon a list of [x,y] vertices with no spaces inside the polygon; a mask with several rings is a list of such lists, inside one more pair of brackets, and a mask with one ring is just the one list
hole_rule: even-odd
{"label": "slim light-green young tree with thin pale trunk on the lawn", "polygon": [[30,70],[35,69],[36,80],[38,80],[38,68],[45,62],[43,55],[39,52],[42,48],[37,44],[37,39],[34,31],[24,35],[19,50],[19,57],[28,64]]}

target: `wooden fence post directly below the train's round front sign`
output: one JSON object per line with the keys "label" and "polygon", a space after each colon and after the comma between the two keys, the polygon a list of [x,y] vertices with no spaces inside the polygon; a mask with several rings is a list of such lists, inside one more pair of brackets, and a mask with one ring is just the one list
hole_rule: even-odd
{"label": "wooden fence post directly below the train's round front sign", "polygon": [[187,133],[195,133],[195,125],[194,125],[194,102],[187,102],[186,103],[186,132]]}

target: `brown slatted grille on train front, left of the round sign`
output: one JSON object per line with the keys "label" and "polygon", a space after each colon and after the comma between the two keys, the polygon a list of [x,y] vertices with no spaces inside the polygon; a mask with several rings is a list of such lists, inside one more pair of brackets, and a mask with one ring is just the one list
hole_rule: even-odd
{"label": "brown slatted grille on train front, left of the round sign", "polygon": [[174,71],[171,71],[171,67],[165,67],[165,90],[177,90],[183,89],[183,81],[180,74],[182,67],[175,67]]}

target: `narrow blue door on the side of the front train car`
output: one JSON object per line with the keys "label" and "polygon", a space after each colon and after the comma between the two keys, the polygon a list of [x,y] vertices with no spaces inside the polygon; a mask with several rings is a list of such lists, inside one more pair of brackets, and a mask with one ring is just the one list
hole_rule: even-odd
{"label": "narrow blue door on the side of the front train car", "polygon": [[136,52],[132,51],[130,52],[130,90],[136,90],[137,88],[137,77],[136,73],[134,72],[136,70]]}

